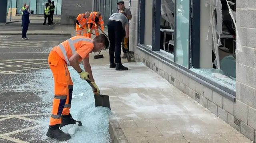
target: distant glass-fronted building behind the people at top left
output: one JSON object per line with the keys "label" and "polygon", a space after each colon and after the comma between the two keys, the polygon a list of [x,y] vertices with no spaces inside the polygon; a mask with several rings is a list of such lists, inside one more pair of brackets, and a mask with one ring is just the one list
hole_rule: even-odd
{"label": "distant glass-fronted building behind the people at top left", "polygon": [[[17,8],[16,14],[21,14],[23,4],[26,3],[30,6],[29,10],[33,11],[33,14],[44,14],[45,4],[48,0],[8,0],[7,12],[9,8]],[[55,15],[61,15],[62,0],[54,0]]]}

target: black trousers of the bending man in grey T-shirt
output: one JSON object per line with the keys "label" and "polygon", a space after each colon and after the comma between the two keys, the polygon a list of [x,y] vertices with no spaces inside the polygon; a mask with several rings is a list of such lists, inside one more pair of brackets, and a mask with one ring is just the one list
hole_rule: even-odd
{"label": "black trousers of the bending man in grey T-shirt", "polygon": [[122,22],[112,21],[108,22],[108,37],[109,37],[109,62],[121,63],[121,45],[123,39],[123,25]]}

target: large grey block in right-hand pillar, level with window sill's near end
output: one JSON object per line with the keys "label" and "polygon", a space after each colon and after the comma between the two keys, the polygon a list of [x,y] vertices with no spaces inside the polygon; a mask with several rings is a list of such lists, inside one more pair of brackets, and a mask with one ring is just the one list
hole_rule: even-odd
{"label": "large grey block in right-hand pillar, level with window sill's near end", "polygon": [[256,90],[242,83],[238,84],[237,86],[240,86],[239,88],[242,89],[238,91],[238,94],[240,95],[240,100],[245,104],[255,108],[256,107],[256,103],[255,103]]}

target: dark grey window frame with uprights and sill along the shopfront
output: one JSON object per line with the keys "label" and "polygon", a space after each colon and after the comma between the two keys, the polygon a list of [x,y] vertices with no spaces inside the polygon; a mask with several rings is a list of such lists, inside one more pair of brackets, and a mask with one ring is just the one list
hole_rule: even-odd
{"label": "dark grey window frame with uprights and sill along the shopfront", "polygon": [[[157,2],[158,1],[158,2]],[[197,74],[193,71],[190,71],[190,67],[194,68],[200,68],[200,0],[190,0],[190,48],[189,48],[189,68],[183,67],[181,65],[178,65],[174,61],[171,61],[170,59],[160,55],[159,53],[155,51],[159,51],[160,49],[160,30],[157,30],[157,27],[160,28],[160,20],[156,20],[156,14],[160,12],[160,0],[153,0],[153,22],[152,22],[152,31],[156,31],[156,33],[152,33],[152,50],[149,50],[148,46],[144,45],[144,33],[145,30],[145,0],[139,0],[138,2],[138,47],[146,50],[147,52],[152,53],[153,55],[163,59],[167,63],[170,63],[173,65],[172,68],[176,69],[177,71],[180,71],[181,73],[188,75],[190,78],[198,81],[199,83],[203,84],[204,86],[212,89],[213,91],[224,95],[226,98],[232,100],[233,102],[236,101],[236,92],[221,86],[220,84],[217,84],[216,82],[213,82],[212,80],[209,80],[200,74]],[[175,9],[176,9],[176,0],[175,0]],[[156,12],[158,10],[158,12]],[[156,12],[156,13],[154,13]],[[160,15],[160,14],[159,14]],[[176,15],[176,14],[175,14]],[[158,16],[159,17],[159,16]],[[158,21],[158,22],[156,22]],[[176,23],[176,18],[175,18]],[[175,27],[176,29],[176,27]],[[153,37],[154,35],[154,37]],[[174,31],[174,36],[176,35],[176,32]],[[157,38],[156,38],[157,36]],[[158,41],[156,41],[159,38]],[[175,41],[174,41],[175,42]],[[159,43],[159,46],[157,46]],[[176,43],[174,43],[176,45]],[[154,48],[153,48],[154,47]],[[174,47],[175,48],[175,47]],[[175,50],[174,50],[175,51]],[[175,53],[174,53],[175,54]],[[175,58],[175,55],[174,55]],[[192,75],[192,76],[191,76]],[[197,78],[200,78],[197,79]]]}

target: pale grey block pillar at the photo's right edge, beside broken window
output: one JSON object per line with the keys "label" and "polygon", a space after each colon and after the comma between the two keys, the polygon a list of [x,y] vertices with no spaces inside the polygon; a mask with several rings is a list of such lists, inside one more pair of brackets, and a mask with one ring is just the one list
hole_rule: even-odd
{"label": "pale grey block pillar at the photo's right edge, beside broken window", "polygon": [[242,52],[236,55],[235,115],[241,120],[241,132],[252,141],[255,141],[256,129],[255,14],[256,0],[236,0],[236,24]]}

